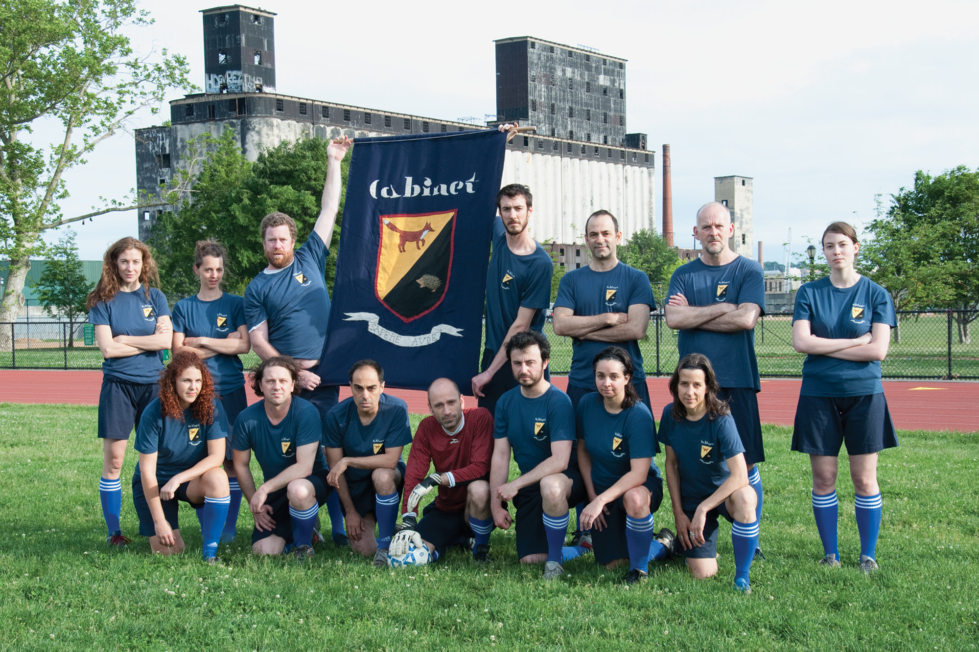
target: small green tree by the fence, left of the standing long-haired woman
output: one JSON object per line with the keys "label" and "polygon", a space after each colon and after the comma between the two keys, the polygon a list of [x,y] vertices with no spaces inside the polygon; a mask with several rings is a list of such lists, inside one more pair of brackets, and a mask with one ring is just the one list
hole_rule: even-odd
{"label": "small green tree by the fence, left of the standing long-haired woman", "polygon": [[[75,321],[85,321],[88,318],[85,300],[95,287],[94,283],[85,280],[74,236],[74,231],[66,231],[58,244],[50,248],[53,256],[47,259],[41,278],[34,284],[37,297],[49,316],[68,317],[69,347],[74,346]],[[78,319],[79,316],[83,318]]]}

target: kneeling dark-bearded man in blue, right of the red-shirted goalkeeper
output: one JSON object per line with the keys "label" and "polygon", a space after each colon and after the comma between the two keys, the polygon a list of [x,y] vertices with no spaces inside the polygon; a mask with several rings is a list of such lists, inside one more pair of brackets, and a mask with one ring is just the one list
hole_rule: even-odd
{"label": "kneeling dark-bearded man in blue, right of the red-shirted goalkeeper", "polygon": [[[517,508],[517,556],[525,564],[544,562],[544,579],[564,573],[568,504],[586,497],[575,455],[575,410],[571,398],[544,380],[550,345],[541,333],[516,333],[506,345],[513,376],[520,383],[496,403],[489,492],[493,521],[507,530]],[[521,475],[507,482],[510,449]],[[581,550],[579,550],[581,552]]]}

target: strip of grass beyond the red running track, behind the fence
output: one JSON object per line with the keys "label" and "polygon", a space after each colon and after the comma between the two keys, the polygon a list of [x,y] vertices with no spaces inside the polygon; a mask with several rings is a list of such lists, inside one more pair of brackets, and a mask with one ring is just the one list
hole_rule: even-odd
{"label": "strip of grass beyond the red running track, behind the fence", "polygon": [[[34,328],[39,329],[39,332],[31,337],[43,338],[43,324],[35,325]],[[887,359],[884,360],[885,378],[939,379],[949,375],[948,319],[944,314],[911,316],[902,320],[901,330],[901,343],[892,341]],[[25,333],[23,326],[18,327],[17,333],[18,337]],[[571,339],[554,335],[550,324],[545,325],[544,333],[551,343],[551,372],[567,374],[571,368]],[[57,338],[57,335],[52,337]],[[57,341],[43,344],[45,348],[35,346],[26,349],[25,341],[22,341],[22,345],[16,350],[17,366],[64,367],[65,349],[51,346],[57,344]],[[678,359],[676,335],[667,328],[662,317],[650,323],[646,339],[640,342],[639,348],[642,350],[643,366],[647,375],[673,373]],[[787,315],[766,315],[759,322],[755,328],[755,352],[763,376],[802,374],[802,363],[806,356],[792,349],[792,320]],[[242,361],[248,368],[256,364],[258,357],[250,352],[242,356]],[[13,363],[10,351],[0,351],[0,367],[10,367]],[[97,369],[102,365],[102,356],[95,348],[70,349],[68,363],[71,368]],[[979,378],[979,339],[969,345],[953,342],[952,377]]]}

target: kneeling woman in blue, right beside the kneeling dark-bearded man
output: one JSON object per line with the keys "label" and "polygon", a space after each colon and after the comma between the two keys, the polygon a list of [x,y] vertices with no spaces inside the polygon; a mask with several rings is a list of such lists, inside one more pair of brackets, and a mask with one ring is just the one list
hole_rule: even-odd
{"label": "kneeling woman in blue, right beside the kneeling dark-bearded man", "polygon": [[629,561],[623,580],[642,582],[649,560],[667,557],[674,539],[667,529],[653,533],[663,501],[656,425],[632,387],[626,349],[601,350],[591,368],[598,394],[578,404],[578,464],[588,491],[582,528],[591,530],[597,563],[611,570]]}

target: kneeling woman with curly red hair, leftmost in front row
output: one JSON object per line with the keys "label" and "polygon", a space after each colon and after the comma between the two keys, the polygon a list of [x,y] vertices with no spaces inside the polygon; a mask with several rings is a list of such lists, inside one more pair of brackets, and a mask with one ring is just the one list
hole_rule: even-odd
{"label": "kneeling woman with curly red hair, leftmost in front row", "polygon": [[173,356],[160,378],[160,398],[143,412],[136,431],[139,462],[132,500],[139,534],[163,555],[183,552],[177,501],[201,514],[204,558],[216,561],[217,539],[231,496],[221,469],[228,421],[204,361],[189,351]]}

